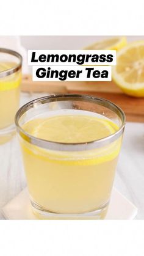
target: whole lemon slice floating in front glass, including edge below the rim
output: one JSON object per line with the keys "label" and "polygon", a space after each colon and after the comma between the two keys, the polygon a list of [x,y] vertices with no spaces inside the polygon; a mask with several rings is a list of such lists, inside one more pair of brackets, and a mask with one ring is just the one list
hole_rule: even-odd
{"label": "whole lemon slice floating in front glass, including edge below the rim", "polygon": [[[88,115],[57,115],[30,120],[23,125],[23,129],[39,139],[70,144],[102,139],[115,133],[118,126],[110,120]],[[120,141],[103,148],[82,152],[45,150],[27,142],[22,147],[28,154],[36,154],[38,158],[51,163],[57,161],[64,165],[93,165],[115,158],[120,151]]]}

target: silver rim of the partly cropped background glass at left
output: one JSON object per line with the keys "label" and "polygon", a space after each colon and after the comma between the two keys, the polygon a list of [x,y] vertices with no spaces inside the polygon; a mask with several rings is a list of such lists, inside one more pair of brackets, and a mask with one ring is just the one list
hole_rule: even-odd
{"label": "silver rim of the partly cropped background glass at left", "polygon": [[20,63],[15,65],[15,67],[8,68],[7,70],[4,70],[4,71],[0,71],[0,78],[4,78],[5,76],[12,75],[16,71],[20,70],[20,68],[22,66],[22,61],[23,61],[23,57],[21,56],[20,53],[17,53],[16,51],[13,51],[12,49],[7,49],[7,48],[0,48],[0,53],[11,54],[20,60]]}

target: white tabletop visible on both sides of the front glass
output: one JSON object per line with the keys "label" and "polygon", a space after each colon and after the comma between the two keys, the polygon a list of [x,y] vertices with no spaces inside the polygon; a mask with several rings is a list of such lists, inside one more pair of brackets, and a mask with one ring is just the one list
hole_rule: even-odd
{"label": "white tabletop visible on both sides of the front glass", "polygon": [[[44,94],[43,94],[44,95]],[[46,94],[45,94],[46,95]],[[21,104],[42,94],[24,93]],[[0,209],[26,186],[17,137],[0,145]],[[126,123],[118,161],[115,188],[138,208],[136,219],[144,219],[144,124]],[[3,219],[0,213],[0,219]]]}

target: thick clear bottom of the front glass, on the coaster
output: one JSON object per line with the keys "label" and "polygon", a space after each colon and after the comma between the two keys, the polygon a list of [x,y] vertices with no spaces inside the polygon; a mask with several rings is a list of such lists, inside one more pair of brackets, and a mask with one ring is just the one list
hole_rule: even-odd
{"label": "thick clear bottom of the front glass, on the coaster", "polygon": [[109,202],[101,208],[87,213],[52,213],[31,200],[32,211],[38,219],[104,219],[107,214]]}

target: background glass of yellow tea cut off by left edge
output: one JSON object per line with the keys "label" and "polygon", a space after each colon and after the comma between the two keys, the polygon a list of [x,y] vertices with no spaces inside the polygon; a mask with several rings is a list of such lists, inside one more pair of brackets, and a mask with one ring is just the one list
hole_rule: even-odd
{"label": "background glass of yellow tea cut off by left edge", "polygon": [[20,102],[22,57],[10,49],[0,48],[0,144],[15,130],[15,114]]}

